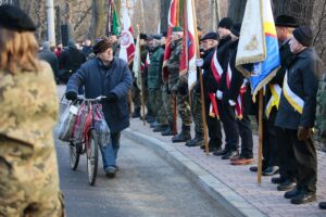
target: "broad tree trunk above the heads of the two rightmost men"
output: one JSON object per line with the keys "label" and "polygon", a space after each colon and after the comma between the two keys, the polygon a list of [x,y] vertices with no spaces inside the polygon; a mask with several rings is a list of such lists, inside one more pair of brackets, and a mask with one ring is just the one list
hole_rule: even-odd
{"label": "broad tree trunk above the heads of the two rightmost men", "polygon": [[298,18],[300,25],[311,25],[315,0],[274,0],[275,17],[287,14]]}

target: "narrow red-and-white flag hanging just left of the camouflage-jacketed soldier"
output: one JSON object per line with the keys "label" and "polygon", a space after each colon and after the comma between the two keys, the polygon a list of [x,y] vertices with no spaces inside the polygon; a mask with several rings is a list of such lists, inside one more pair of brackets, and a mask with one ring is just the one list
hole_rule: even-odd
{"label": "narrow red-and-white flag hanging just left of the camouflage-jacketed soldier", "polygon": [[168,79],[168,71],[167,71],[167,62],[171,55],[171,35],[172,28],[175,27],[178,23],[177,21],[177,13],[178,13],[178,4],[179,0],[172,0],[168,9],[168,16],[167,16],[167,35],[166,35],[166,43],[165,43],[165,51],[164,51],[164,59],[163,59],[163,80]]}

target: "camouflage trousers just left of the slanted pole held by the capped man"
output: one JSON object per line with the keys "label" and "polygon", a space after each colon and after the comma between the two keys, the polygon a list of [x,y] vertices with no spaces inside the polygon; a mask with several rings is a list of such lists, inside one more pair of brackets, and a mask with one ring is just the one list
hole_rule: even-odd
{"label": "camouflage trousers just left of the slanted pole held by the capped man", "polygon": [[200,92],[196,92],[195,88],[191,91],[191,114],[196,133],[203,135],[204,129],[201,114],[201,98]]}

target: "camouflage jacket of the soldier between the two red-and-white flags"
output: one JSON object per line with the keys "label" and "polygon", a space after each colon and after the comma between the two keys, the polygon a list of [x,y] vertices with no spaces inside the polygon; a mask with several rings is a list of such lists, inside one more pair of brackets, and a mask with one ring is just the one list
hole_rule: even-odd
{"label": "camouflage jacket of the soldier between the two red-and-white flags", "polygon": [[179,67],[180,67],[180,55],[183,50],[183,39],[178,39],[171,44],[171,55],[167,62],[168,76],[168,88],[171,90],[177,90],[179,86]]}

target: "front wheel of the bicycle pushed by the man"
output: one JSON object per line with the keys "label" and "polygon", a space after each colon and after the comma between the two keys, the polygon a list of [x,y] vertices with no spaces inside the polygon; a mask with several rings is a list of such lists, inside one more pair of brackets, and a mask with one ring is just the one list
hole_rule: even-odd
{"label": "front wheel of the bicycle pushed by the man", "polygon": [[98,159],[99,159],[99,142],[98,135],[95,129],[89,131],[89,141],[87,145],[87,174],[88,183],[93,186],[98,174]]}

